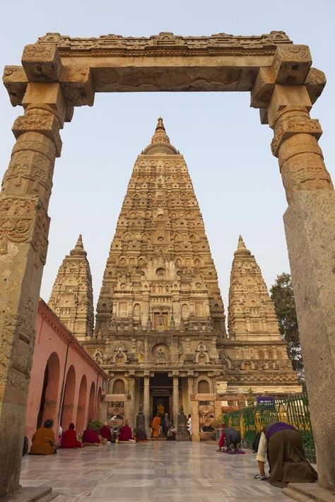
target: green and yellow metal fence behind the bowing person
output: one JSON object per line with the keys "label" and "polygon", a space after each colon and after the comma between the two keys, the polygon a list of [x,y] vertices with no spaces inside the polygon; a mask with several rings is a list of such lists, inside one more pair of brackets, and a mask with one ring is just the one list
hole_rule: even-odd
{"label": "green and yellow metal fence behind the bowing person", "polygon": [[245,446],[251,448],[257,432],[266,424],[286,422],[295,426],[302,436],[305,455],[310,462],[315,462],[315,443],[310,423],[310,408],[307,394],[293,394],[285,398],[276,398],[274,405],[255,405],[237,412],[223,415],[226,426],[241,433]]}

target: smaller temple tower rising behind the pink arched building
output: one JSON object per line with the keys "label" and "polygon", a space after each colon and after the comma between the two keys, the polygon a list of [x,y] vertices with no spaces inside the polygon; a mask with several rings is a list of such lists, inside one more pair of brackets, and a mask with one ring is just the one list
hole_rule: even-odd
{"label": "smaller temple tower rising behind the pink arched building", "polygon": [[[77,340],[86,340],[92,336],[94,324],[92,277],[81,235],[58,270],[48,305],[61,322],[74,333]],[[97,361],[102,362],[100,352],[94,355]]]}

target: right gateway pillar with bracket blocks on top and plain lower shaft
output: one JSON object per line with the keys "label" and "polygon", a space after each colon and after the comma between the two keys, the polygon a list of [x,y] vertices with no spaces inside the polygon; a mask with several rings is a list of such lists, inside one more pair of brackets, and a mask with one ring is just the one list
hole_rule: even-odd
{"label": "right gateway pillar with bracket blocks on top and plain lower shaft", "polygon": [[317,143],[322,129],[309,114],[325,79],[315,68],[307,73],[308,59],[305,46],[277,50],[271,68],[259,71],[252,105],[262,108],[263,123],[274,129],[271,149],[288,200],[284,225],[319,484],[334,491],[335,193]]}

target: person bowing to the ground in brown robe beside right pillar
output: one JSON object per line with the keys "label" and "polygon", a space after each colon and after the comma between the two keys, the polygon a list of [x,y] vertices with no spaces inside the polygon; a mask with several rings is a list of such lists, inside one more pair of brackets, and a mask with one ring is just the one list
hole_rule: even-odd
{"label": "person bowing to the ground in brown robe beside right pillar", "polygon": [[[269,478],[265,474],[266,457],[269,462]],[[313,483],[317,472],[305,458],[302,438],[293,425],[276,422],[264,426],[257,451],[261,480],[269,479],[274,486],[288,483]]]}

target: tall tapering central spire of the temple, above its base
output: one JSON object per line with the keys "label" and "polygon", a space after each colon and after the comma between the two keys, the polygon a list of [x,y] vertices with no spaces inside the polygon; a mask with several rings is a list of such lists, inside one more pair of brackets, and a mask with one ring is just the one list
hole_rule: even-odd
{"label": "tall tapering central spire of the temple, above its base", "polygon": [[159,331],[225,330],[216,269],[192,181],[162,119],[129,181],[102,281],[95,332],[139,332],[151,322]]}

